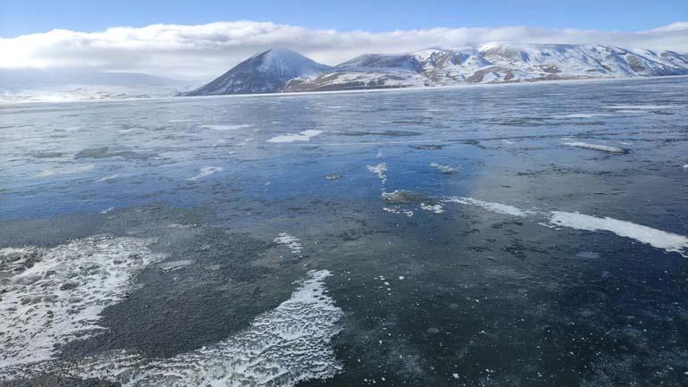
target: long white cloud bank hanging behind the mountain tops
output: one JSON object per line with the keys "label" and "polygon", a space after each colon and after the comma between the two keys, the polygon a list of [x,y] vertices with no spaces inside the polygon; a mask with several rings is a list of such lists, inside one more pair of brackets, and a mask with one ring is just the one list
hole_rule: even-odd
{"label": "long white cloud bank hanging behind the mountain tops", "polygon": [[531,27],[433,28],[367,32],[306,29],[257,21],[203,25],[155,24],[102,32],[54,29],[0,38],[0,68],[91,68],[206,80],[273,46],[316,61],[340,63],[364,53],[400,53],[429,46],[512,43],[610,44],[688,52],[688,22],[637,32]]}

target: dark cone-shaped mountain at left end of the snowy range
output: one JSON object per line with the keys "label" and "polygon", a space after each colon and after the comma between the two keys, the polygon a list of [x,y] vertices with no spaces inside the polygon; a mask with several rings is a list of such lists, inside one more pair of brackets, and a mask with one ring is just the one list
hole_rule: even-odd
{"label": "dark cone-shaped mountain at left end of the snowy range", "polygon": [[280,91],[288,80],[308,80],[331,67],[287,49],[270,49],[251,56],[229,72],[186,96],[216,96]]}

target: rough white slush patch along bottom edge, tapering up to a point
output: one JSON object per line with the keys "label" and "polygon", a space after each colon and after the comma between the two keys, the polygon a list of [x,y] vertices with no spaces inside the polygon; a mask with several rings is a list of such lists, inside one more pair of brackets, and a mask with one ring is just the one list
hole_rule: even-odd
{"label": "rough white slush patch along bottom edge, tapering up to a point", "polygon": [[308,272],[289,299],[258,315],[247,330],[212,346],[166,359],[126,351],[53,361],[29,371],[0,373],[0,379],[56,373],[98,378],[124,387],[291,387],[328,379],[342,370],[331,349],[343,313],[327,294],[326,270]]}

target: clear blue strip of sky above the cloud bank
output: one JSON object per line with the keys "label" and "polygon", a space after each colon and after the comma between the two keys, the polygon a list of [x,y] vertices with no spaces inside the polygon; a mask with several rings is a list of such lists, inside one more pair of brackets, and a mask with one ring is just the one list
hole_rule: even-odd
{"label": "clear blue strip of sky above the cloud bank", "polygon": [[688,4],[686,0],[0,0],[3,38],[50,29],[98,31],[113,26],[238,20],[368,31],[513,25],[637,31],[688,20]]}

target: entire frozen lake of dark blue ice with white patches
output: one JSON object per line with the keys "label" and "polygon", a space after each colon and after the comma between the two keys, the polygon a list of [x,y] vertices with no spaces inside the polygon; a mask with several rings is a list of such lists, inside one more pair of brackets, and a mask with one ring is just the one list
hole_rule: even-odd
{"label": "entire frozen lake of dark blue ice with white patches", "polygon": [[688,385],[688,79],[0,105],[0,384]]}

